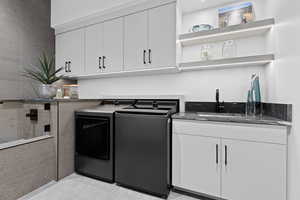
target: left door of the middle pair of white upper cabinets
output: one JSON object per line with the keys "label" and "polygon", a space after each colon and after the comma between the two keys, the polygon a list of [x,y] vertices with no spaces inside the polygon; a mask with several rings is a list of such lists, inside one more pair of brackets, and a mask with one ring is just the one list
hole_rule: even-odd
{"label": "left door of the middle pair of white upper cabinets", "polygon": [[103,56],[103,24],[87,27],[85,30],[85,73],[101,73]]}

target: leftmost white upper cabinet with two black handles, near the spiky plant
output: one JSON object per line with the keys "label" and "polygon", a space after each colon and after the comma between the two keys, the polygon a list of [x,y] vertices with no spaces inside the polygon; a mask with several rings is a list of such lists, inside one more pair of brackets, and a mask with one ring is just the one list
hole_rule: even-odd
{"label": "leftmost white upper cabinet with two black handles, near the spiky plant", "polygon": [[66,76],[84,72],[84,30],[70,31],[56,36],[56,67],[63,67]]}

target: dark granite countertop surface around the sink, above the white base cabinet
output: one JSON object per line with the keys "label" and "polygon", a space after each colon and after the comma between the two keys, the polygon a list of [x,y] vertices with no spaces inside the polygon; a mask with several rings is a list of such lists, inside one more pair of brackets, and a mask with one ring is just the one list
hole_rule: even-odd
{"label": "dark granite countertop surface around the sink, above the white base cabinet", "polygon": [[184,119],[184,120],[197,120],[197,121],[292,126],[292,122],[283,121],[270,116],[250,117],[250,116],[246,116],[245,114],[232,114],[232,113],[185,112],[185,113],[174,114],[172,118]]}

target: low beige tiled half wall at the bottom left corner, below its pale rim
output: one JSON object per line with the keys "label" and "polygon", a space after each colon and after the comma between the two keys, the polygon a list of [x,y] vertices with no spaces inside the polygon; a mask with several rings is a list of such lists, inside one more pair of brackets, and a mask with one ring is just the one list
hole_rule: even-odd
{"label": "low beige tiled half wall at the bottom left corner, below its pale rim", "polygon": [[16,200],[56,179],[54,140],[0,150],[1,200]]}

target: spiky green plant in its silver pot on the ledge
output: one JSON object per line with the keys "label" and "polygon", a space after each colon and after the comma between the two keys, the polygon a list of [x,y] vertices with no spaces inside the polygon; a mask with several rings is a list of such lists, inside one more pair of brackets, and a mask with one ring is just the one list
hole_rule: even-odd
{"label": "spiky green plant in its silver pot on the ledge", "polygon": [[40,97],[52,98],[56,93],[52,84],[63,78],[62,75],[58,75],[62,69],[55,70],[54,58],[43,53],[39,58],[39,64],[24,69],[23,76],[41,83],[39,86]]}

